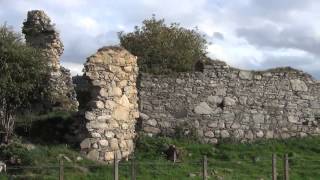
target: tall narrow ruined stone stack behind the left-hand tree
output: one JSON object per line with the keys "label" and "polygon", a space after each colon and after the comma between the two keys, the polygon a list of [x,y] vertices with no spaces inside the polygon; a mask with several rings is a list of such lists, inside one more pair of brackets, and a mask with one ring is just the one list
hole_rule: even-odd
{"label": "tall narrow ruined stone stack behind the left-hand tree", "polygon": [[50,68],[47,82],[48,96],[44,100],[47,102],[43,102],[49,107],[45,108],[77,110],[78,101],[70,71],[60,65],[63,44],[50,18],[44,11],[29,11],[27,20],[23,23],[22,32],[29,45],[42,51]]}

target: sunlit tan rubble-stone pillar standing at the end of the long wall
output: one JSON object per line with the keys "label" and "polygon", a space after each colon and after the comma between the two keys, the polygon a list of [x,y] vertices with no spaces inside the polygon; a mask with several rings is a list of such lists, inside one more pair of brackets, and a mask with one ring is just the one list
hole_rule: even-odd
{"label": "sunlit tan rubble-stone pillar standing at the end of the long wall", "polygon": [[93,160],[112,162],[134,150],[138,118],[137,59],[120,47],[103,47],[87,59],[84,78],[91,98],[85,109],[89,137],[80,146]]}

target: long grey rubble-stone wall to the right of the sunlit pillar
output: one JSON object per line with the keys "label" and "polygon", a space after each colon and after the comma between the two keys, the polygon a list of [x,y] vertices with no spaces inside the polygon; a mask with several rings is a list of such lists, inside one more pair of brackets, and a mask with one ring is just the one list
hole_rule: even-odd
{"label": "long grey rubble-stone wall to the right of the sunlit pillar", "polygon": [[142,74],[139,99],[149,135],[217,143],[320,134],[320,83],[292,68],[244,71],[208,61],[203,72]]}

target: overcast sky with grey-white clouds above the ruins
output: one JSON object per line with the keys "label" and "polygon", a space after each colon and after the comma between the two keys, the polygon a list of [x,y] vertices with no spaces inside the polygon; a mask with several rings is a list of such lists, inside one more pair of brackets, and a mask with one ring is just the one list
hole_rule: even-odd
{"label": "overcast sky with grey-white clouds above the ruins", "polygon": [[118,31],[156,14],[197,26],[212,42],[209,56],[232,66],[292,66],[320,79],[319,0],[0,0],[0,23],[21,31],[34,9],[56,24],[65,46],[61,62],[73,75],[98,48],[118,44]]}

